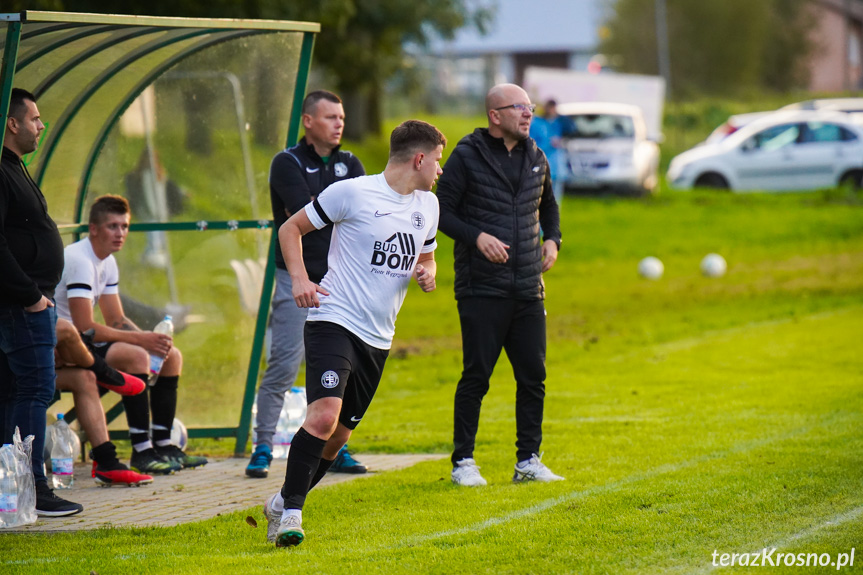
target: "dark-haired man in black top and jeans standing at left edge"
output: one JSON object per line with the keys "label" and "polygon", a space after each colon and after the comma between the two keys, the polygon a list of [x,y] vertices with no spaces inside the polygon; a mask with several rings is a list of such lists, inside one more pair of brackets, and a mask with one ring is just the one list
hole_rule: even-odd
{"label": "dark-haired man in black top and jeans standing at left edge", "polygon": [[63,240],[21,158],[36,150],[44,129],[36,98],[14,88],[0,160],[0,443],[11,443],[16,427],[22,437],[33,435],[36,512],[59,517],[84,507],[54,495],[42,455],[54,397],[53,297],[63,273]]}

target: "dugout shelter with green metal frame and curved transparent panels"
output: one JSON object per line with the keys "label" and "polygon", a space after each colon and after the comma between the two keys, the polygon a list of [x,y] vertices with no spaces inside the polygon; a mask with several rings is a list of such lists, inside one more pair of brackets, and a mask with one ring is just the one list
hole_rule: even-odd
{"label": "dugout shelter with green metal frame and curved transparent panels", "polygon": [[[13,86],[32,92],[46,129],[24,162],[66,243],[86,233],[96,197],[130,200],[116,254],[126,311],[173,311],[184,356],[178,417],[190,438],[235,438],[237,454],[273,288],[269,163],[298,139],[319,31],[275,20],[0,14],[0,134]],[[109,420],[121,411],[110,408]],[[125,439],[116,425],[112,438]]]}

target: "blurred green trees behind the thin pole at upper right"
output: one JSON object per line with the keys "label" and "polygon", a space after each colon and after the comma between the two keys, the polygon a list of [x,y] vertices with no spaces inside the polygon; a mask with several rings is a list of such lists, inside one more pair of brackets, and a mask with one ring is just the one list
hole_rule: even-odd
{"label": "blurred green trees behind the thin pole at upper right", "polygon": [[[657,74],[655,0],[616,0],[600,51],[619,72]],[[818,49],[811,0],[666,0],[670,93],[788,92],[808,80]]]}

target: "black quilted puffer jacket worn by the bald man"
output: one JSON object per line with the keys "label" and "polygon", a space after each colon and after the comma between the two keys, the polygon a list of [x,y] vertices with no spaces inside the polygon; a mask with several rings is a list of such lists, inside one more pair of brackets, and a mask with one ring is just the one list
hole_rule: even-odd
{"label": "black quilted puffer jacket worn by the bald man", "polygon": [[[544,299],[540,226],[543,239],[560,247],[560,215],[548,182],[548,162],[531,138],[510,151],[503,138],[477,128],[458,143],[438,183],[440,229],[456,240],[457,299]],[[481,232],[509,246],[508,269],[482,255]]]}

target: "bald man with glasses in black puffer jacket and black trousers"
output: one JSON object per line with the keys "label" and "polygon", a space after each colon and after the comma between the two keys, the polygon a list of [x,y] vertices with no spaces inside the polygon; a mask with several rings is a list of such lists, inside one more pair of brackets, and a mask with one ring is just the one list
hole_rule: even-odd
{"label": "bald man with glasses in black puffer jacket and black trousers", "polygon": [[[562,479],[537,455],[545,399],[545,288],[560,212],[545,154],[528,137],[533,106],[514,84],[486,97],[488,128],[453,150],[438,181],[440,230],[455,240],[464,370],[455,396],[453,482],[484,485],[473,459],[482,398],[501,350],[516,378],[516,481]],[[542,230],[542,231],[541,231]],[[544,237],[540,237],[543,234]]]}

